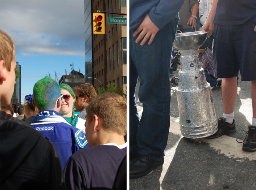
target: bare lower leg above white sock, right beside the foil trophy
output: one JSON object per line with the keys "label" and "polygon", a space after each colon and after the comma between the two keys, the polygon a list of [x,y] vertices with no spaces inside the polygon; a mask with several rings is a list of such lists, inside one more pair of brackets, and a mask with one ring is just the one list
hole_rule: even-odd
{"label": "bare lower leg above white sock, right beside the foil trophy", "polygon": [[[232,113],[235,108],[236,95],[238,92],[237,77],[223,78],[221,89],[222,89],[222,100],[223,100],[223,112],[226,114]],[[256,85],[255,85],[255,89],[256,89]],[[255,98],[255,101],[256,101],[256,98]],[[255,115],[256,115],[256,107],[255,107]]]}

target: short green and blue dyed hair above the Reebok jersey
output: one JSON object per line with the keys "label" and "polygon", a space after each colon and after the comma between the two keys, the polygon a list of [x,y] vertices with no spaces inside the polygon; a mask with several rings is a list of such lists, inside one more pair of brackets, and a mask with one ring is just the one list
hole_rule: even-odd
{"label": "short green and blue dyed hair above the Reebok jersey", "polygon": [[37,108],[54,109],[56,100],[61,96],[59,84],[49,77],[44,77],[37,81],[33,88],[34,102]]}

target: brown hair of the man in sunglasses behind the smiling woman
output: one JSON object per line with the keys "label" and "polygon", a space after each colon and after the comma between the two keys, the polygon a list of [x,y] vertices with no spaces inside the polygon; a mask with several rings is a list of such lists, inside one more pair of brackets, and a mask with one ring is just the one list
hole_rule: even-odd
{"label": "brown hair of the man in sunglasses behind the smiling woman", "polygon": [[95,88],[90,85],[90,83],[79,85],[78,87],[75,87],[74,91],[76,91],[79,96],[87,96],[87,103],[91,102],[97,96]]}

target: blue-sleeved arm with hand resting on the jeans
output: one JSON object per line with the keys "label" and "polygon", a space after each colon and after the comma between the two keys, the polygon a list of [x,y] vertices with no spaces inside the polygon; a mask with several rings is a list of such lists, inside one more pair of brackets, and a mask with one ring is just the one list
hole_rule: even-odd
{"label": "blue-sleeved arm with hand resting on the jeans", "polygon": [[183,3],[184,0],[160,0],[146,14],[139,27],[133,33],[134,37],[140,33],[135,42],[139,43],[142,39],[140,45],[143,46],[149,39],[148,44],[150,45],[157,32],[176,17]]}

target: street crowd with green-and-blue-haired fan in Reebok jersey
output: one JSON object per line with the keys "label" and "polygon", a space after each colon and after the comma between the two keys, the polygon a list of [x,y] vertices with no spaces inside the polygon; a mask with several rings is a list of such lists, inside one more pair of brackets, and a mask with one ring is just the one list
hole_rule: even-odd
{"label": "street crowd with green-and-blue-haired fan in Reebok jersey", "polygon": [[3,30],[0,47],[0,189],[126,189],[126,98],[44,77],[13,106],[15,45]]}

